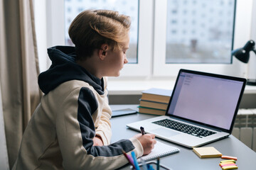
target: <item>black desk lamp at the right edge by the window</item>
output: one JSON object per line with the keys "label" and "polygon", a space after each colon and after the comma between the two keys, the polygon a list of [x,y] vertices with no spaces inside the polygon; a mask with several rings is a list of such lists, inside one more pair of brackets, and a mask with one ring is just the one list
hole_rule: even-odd
{"label": "black desk lamp at the right edge by the window", "polygon": [[[233,50],[232,55],[241,62],[247,63],[249,62],[250,51],[255,52],[256,55],[255,42],[253,40],[249,40],[248,42],[246,42],[244,47]],[[248,79],[247,84],[256,86],[256,79]]]}

